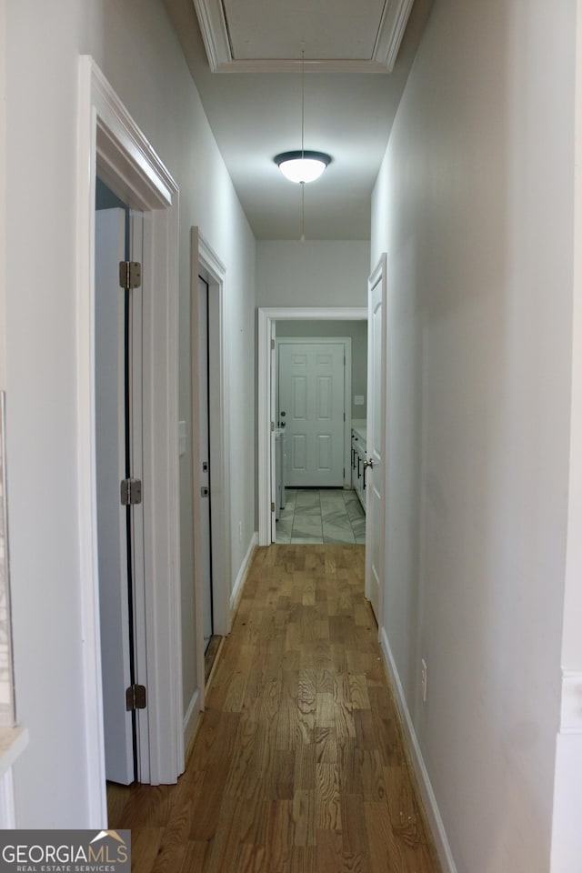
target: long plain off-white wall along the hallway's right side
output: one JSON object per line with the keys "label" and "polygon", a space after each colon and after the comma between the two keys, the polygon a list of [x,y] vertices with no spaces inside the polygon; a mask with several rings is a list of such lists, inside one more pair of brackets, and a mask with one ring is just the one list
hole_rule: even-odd
{"label": "long plain off-white wall along the hallway's right side", "polygon": [[373,196],[372,265],[388,254],[383,625],[458,873],[549,869],[575,25],[574,4],[435,4]]}

